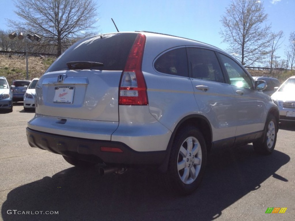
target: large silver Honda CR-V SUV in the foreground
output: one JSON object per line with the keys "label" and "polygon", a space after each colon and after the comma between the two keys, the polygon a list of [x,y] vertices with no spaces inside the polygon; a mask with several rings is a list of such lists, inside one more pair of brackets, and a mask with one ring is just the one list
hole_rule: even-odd
{"label": "large silver Honda CR-V SUV in the foreground", "polygon": [[222,50],[175,36],[119,32],[65,51],[36,86],[32,147],[101,173],[150,166],[181,194],[204,175],[207,152],[253,142],[270,154],[279,110]]}

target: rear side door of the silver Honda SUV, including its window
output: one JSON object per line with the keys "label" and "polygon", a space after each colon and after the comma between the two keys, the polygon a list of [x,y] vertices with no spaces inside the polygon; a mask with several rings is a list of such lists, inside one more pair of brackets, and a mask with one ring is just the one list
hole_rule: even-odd
{"label": "rear side door of the silver Honda SUV, including its window", "polygon": [[[209,119],[213,142],[234,138],[236,105],[232,86],[225,83],[222,69],[213,50],[187,47],[191,83],[200,112]],[[228,139],[227,145],[233,144]]]}

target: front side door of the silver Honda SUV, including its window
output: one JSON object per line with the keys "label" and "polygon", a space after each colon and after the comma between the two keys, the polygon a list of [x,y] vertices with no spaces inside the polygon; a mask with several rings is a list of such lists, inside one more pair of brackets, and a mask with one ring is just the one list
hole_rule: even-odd
{"label": "front side door of the silver Honda SUV, including its window", "polygon": [[262,131],[268,96],[254,88],[252,77],[232,58],[219,54],[236,96],[236,136]]}

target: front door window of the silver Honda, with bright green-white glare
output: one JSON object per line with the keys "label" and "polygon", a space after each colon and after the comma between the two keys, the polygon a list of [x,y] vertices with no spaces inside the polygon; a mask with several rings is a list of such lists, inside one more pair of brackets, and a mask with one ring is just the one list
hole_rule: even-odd
{"label": "front door window of the silver Honda, with bright green-white glare", "polygon": [[247,73],[238,65],[237,62],[231,58],[220,54],[227,74],[230,78],[230,84],[235,85],[239,88],[252,88],[252,81]]}

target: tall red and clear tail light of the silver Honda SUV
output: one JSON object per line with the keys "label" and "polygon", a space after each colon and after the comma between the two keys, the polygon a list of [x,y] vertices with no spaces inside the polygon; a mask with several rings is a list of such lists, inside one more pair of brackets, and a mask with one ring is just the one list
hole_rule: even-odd
{"label": "tall red and clear tail light of the silver Honda SUV", "polygon": [[138,34],[129,53],[119,88],[119,105],[148,105],[145,79],[141,70],[146,37]]}

